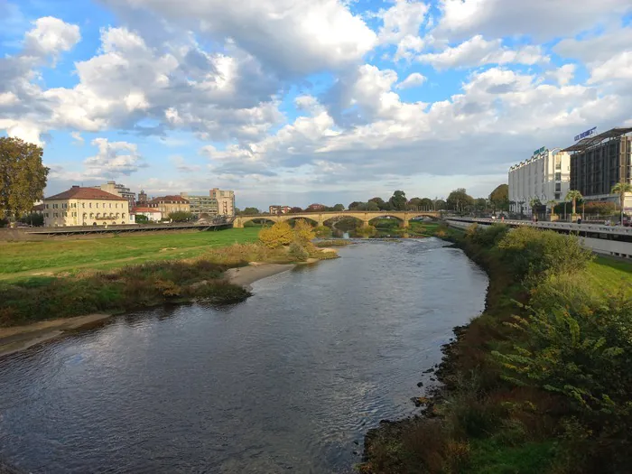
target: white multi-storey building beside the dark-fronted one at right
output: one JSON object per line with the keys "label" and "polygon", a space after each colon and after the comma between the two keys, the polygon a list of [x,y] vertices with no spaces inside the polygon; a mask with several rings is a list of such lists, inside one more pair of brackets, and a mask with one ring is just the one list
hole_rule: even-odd
{"label": "white multi-storey building beside the dark-fronted one at right", "polygon": [[509,168],[509,201],[511,210],[529,214],[531,201],[543,205],[550,200],[562,202],[571,189],[571,155],[542,147],[528,160]]}

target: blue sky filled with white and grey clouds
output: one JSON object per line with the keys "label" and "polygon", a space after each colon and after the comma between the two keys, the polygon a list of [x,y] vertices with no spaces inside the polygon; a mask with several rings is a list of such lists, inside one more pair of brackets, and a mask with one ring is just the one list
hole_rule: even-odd
{"label": "blue sky filled with white and grey clouds", "polygon": [[624,125],[630,0],[0,0],[0,135],[46,195],[479,197]]}

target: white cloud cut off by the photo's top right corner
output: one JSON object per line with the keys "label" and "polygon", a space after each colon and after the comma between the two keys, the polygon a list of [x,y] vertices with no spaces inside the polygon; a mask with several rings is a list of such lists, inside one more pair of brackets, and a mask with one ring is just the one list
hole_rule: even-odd
{"label": "white cloud cut off by the photo's top right corner", "polygon": [[437,34],[465,39],[530,35],[538,40],[571,36],[632,11],[629,0],[440,0]]}

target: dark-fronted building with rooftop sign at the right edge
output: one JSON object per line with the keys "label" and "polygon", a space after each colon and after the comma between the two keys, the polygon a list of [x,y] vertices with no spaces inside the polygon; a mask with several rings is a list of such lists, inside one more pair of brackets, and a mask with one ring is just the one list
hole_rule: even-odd
{"label": "dark-fronted building with rooftop sign at the right edge", "polygon": [[[583,138],[564,152],[572,153],[572,190],[580,191],[584,200],[619,205],[618,194],[610,191],[618,182],[632,183],[632,127]],[[632,211],[632,193],[627,193],[624,208]]]}

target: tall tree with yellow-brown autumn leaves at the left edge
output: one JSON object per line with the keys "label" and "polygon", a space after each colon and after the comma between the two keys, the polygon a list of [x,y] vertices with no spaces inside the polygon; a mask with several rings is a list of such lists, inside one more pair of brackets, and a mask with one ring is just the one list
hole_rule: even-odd
{"label": "tall tree with yellow-brown autumn leaves at the left edge", "polygon": [[0,137],[0,210],[18,218],[42,200],[49,172],[42,154],[41,146]]}

